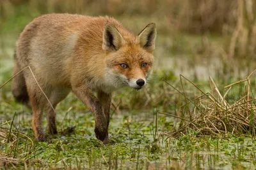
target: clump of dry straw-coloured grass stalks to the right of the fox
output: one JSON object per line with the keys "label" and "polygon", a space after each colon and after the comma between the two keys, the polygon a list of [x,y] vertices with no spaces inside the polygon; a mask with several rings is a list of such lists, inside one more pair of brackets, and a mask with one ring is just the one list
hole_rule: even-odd
{"label": "clump of dry straw-coloured grass stalks to the right of the fox", "polygon": [[[178,116],[159,112],[163,115],[176,117],[181,120],[178,130],[170,132],[168,135],[177,137],[182,134],[193,134],[196,136],[252,134],[254,137],[256,99],[253,95],[250,81],[255,71],[246,79],[227,85],[225,87],[227,90],[223,95],[211,77],[209,80],[211,92],[204,92],[187,78],[181,76],[182,79],[191,83],[202,95],[195,97],[195,99],[189,99],[181,81],[183,92],[179,90],[178,92],[186,98],[186,104],[181,106],[184,112],[177,113]],[[170,85],[170,83],[168,83],[168,85]],[[228,100],[230,89],[234,89],[238,85],[243,87],[241,97],[236,101]],[[236,95],[237,93],[238,92],[236,92]]]}

